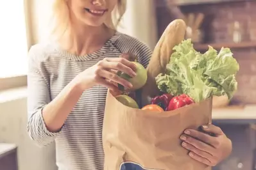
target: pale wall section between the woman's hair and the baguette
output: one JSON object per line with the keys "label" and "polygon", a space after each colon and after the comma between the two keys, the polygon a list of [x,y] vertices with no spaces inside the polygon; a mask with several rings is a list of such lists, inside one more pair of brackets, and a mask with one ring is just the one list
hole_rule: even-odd
{"label": "pale wall section between the woman's hair and the baguette", "polygon": [[156,20],[154,0],[127,0],[127,10],[117,30],[141,40],[153,50],[158,40]]}

